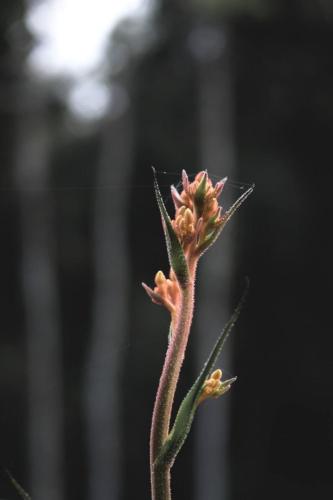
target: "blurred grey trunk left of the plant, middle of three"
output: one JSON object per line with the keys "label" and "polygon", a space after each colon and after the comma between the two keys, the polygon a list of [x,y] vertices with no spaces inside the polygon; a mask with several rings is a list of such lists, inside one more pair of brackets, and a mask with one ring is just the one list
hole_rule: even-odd
{"label": "blurred grey trunk left of the plant, middle of three", "polygon": [[[121,487],[120,376],[129,311],[128,189],[132,168],[129,109],[105,124],[98,165],[93,330],[86,372],[89,498],[117,500]],[[103,186],[106,186],[103,189]]]}

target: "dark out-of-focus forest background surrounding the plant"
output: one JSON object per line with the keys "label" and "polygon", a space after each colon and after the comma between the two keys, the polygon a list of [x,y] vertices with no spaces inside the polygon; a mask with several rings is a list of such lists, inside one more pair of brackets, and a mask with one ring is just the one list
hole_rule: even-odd
{"label": "dark out-of-focus forest background surrounding the plant", "polygon": [[168,269],[154,165],[170,211],[183,168],[227,175],[225,208],[256,184],[201,262],[177,403],[251,285],[219,362],[238,381],[200,408],[175,500],[332,498],[332,2],[155,0],[81,90],[33,66],[42,4],[0,6],[0,497],[7,468],[33,500],[149,498],[168,332],[140,285]]}

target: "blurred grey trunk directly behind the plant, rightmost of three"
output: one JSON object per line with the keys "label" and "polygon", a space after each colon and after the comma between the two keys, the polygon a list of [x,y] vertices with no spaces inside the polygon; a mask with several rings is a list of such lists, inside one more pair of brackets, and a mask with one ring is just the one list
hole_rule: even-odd
{"label": "blurred grey trunk directly behind the plant, rightmost of three", "polygon": [[[223,40],[221,40],[221,43]],[[217,52],[218,53],[218,52]],[[198,59],[200,168],[219,178],[233,176],[232,95],[227,55]],[[217,179],[216,179],[217,180]],[[228,207],[226,193],[220,204]],[[216,245],[200,262],[197,308],[197,371],[210,352],[217,335],[231,314],[232,237],[228,227]],[[217,367],[230,371],[230,340]],[[228,374],[230,375],[230,373]],[[197,414],[195,436],[195,498],[226,500],[228,494],[227,441],[229,434],[228,395],[208,401]]]}

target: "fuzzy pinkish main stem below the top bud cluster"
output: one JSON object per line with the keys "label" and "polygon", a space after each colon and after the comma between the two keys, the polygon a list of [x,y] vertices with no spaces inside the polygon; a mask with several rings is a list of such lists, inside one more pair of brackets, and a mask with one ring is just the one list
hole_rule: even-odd
{"label": "fuzzy pinkish main stem below the top bud cluster", "polygon": [[189,263],[190,280],[187,287],[181,291],[174,329],[156,394],[150,434],[152,500],[171,499],[170,465],[156,467],[154,462],[169,434],[173,400],[193,317],[196,264],[196,260]]}

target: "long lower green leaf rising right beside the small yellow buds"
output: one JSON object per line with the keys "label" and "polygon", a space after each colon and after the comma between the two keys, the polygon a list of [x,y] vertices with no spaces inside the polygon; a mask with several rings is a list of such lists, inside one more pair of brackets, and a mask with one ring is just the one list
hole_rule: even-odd
{"label": "long lower green leaf rising right beside the small yellow buds", "polygon": [[[163,448],[161,450],[161,453],[156,459],[155,466],[159,467],[159,465],[169,465],[171,466],[179,453],[180,449],[182,448],[187,435],[191,429],[191,425],[193,422],[193,418],[198,406],[198,399],[201,394],[202,386],[205,382],[205,380],[208,378],[210,375],[216,360],[218,356],[220,355],[222,348],[224,346],[224,343],[226,339],[229,336],[229,333],[231,332],[234,324],[236,323],[238,316],[241,312],[241,309],[243,307],[243,304],[245,302],[245,298],[248,292],[248,281],[246,284],[246,288],[243,292],[243,295],[234,310],[231,318],[229,319],[228,323],[225,325],[221,335],[216,341],[216,344],[211,351],[199,377],[197,380],[194,382],[193,386],[183,399],[183,402],[181,403],[173,428],[166,439]],[[230,379],[228,381],[224,381],[224,385],[227,385],[227,383],[231,384],[234,382],[235,379]]]}

